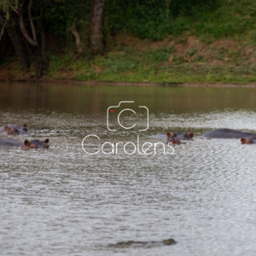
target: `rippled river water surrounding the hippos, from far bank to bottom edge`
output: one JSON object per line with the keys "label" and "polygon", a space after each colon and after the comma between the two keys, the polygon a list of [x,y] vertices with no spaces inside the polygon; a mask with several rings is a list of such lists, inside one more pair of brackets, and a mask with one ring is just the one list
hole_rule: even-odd
{"label": "rippled river water surrounding the hippos, from far bank to bottom edge", "polygon": [[[121,101],[132,102],[109,108]],[[0,149],[2,255],[255,255],[256,147],[201,139],[222,127],[256,131],[255,89],[2,83],[0,106],[0,126],[26,123],[26,138],[50,145]],[[125,108],[136,112],[120,114],[131,130],[117,123]],[[173,154],[162,144],[131,154],[138,136],[142,150],[167,131],[195,138]],[[87,152],[108,142],[104,152],[119,143],[117,154],[86,154],[88,135],[100,139],[87,137]],[[171,237],[177,244],[109,247]]]}

